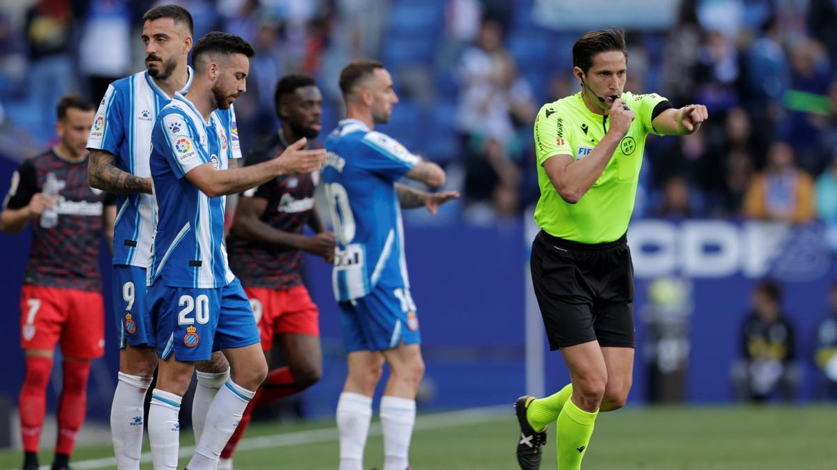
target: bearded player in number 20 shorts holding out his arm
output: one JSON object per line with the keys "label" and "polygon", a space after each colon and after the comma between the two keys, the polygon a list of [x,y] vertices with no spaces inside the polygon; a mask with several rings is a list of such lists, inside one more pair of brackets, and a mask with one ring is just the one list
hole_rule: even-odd
{"label": "bearded player in number 20 shorts holding out his arm", "polygon": [[157,231],[148,266],[148,306],[160,357],[151,392],[148,436],[155,468],[177,468],[178,413],[194,365],[223,350],[231,377],[206,412],[206,425],[188,464],[213,470],[244,408],[267,375],[253,310],[229,269],[223,241],[228,194],[289,173],[316,171],[322,150],[301,150],[305,139],[278,158],[229,169],[234,156],[217,109],[227,110],[246,90],[253,48],[227,33],[208,33],[195,44],[195,79],[176,94],[151,133],[151,177]]}

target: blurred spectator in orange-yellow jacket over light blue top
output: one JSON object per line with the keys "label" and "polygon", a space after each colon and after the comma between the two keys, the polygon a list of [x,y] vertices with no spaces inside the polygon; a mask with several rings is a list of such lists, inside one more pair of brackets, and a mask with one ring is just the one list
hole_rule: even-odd
{"label": "blurred spectator in orange-yellow jacket over light blue top", "polygon": [[774,142],[764,171],[752,177],[744,215],[774,222],[803,223],[814,218],[814,181],[793,164],[793,149]]}

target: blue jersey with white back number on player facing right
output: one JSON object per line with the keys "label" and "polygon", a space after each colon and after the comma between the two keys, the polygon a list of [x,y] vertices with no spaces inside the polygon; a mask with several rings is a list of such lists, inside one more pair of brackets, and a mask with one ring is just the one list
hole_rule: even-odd
{"label": "blue jersey with white back number on player facing right", "polygon": [[338,302],[381,286],[409,288],[395,181],[419,161],[359,120],[341,120],[325,141],[322,181],[337,238],[331,282]]}

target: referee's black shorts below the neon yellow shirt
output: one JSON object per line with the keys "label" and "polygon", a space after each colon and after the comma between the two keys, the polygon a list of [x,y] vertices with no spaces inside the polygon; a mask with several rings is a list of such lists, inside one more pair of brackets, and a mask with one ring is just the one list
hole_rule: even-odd
{"label": "referee's black shorts below the neon yellow shirt", "polygon": [[624,235],[588,244],[541,231],[530,266],[550,350],[594,340],[634,347],[634,265]]}

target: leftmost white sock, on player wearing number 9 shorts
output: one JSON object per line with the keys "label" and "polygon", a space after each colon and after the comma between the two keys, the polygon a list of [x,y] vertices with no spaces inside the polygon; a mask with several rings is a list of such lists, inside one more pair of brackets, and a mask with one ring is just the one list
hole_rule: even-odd
{"label": "leftmost white sock, on player wearing number 9 shorts", "polygon": [[142,424],[145,410],[146,391],[151,386],[151,377],[119,373],[113,402],[110,405],[110,436],[113,438],[113,452],[116,468],[139,470],[142,453]]}

